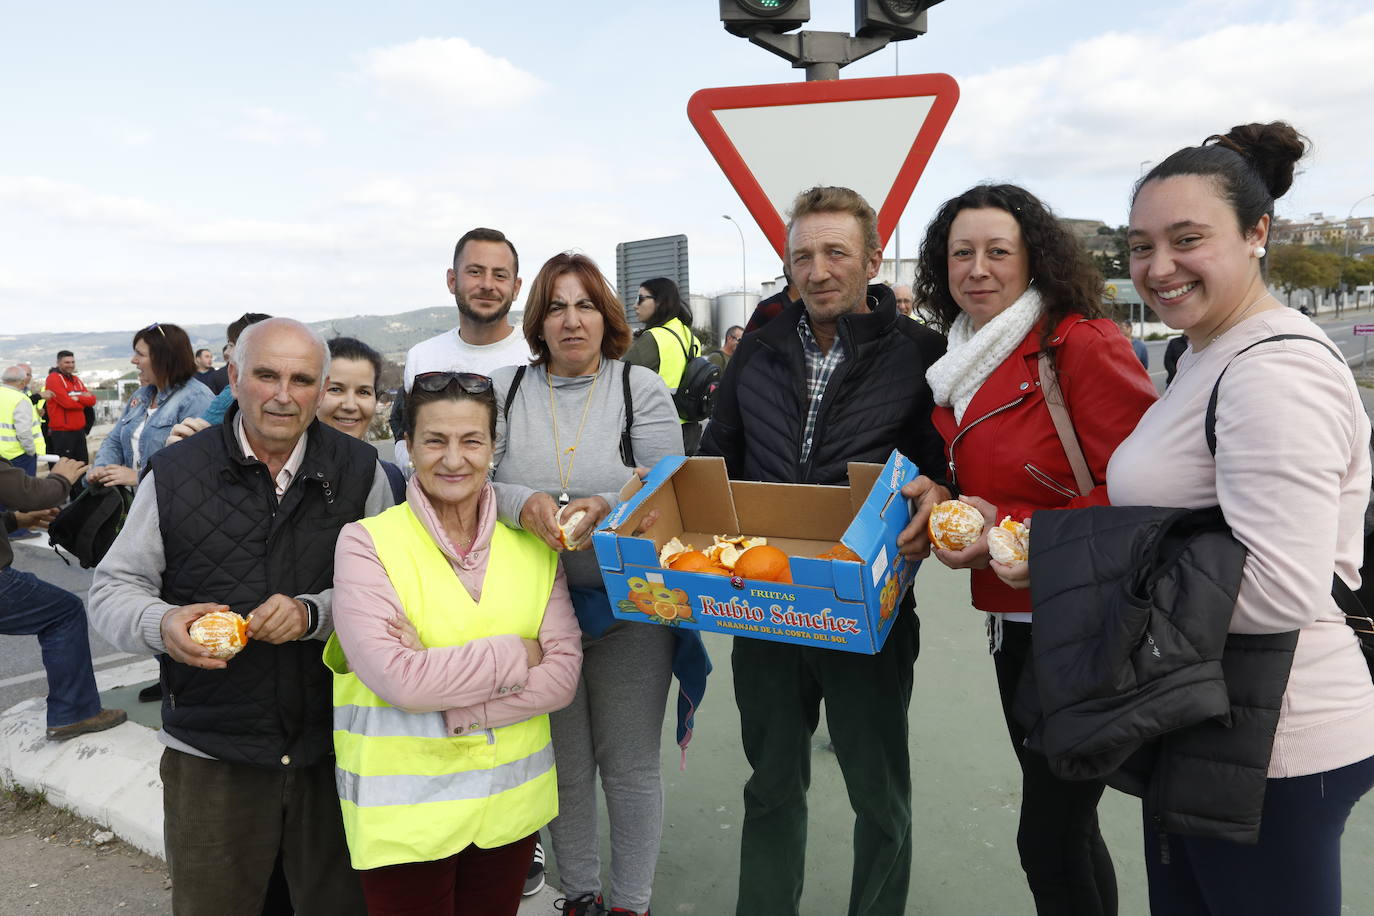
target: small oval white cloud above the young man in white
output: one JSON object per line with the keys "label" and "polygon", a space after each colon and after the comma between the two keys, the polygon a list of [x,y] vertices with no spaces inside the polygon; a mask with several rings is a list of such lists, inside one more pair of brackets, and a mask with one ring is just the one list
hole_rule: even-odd
{"label": "small oval white cloud above the young man in white", "polygon": [[418,38],[363,55],[363,71],[383,95],[434,114],[510,108],[543,82],[506,58],[463,38]]}

